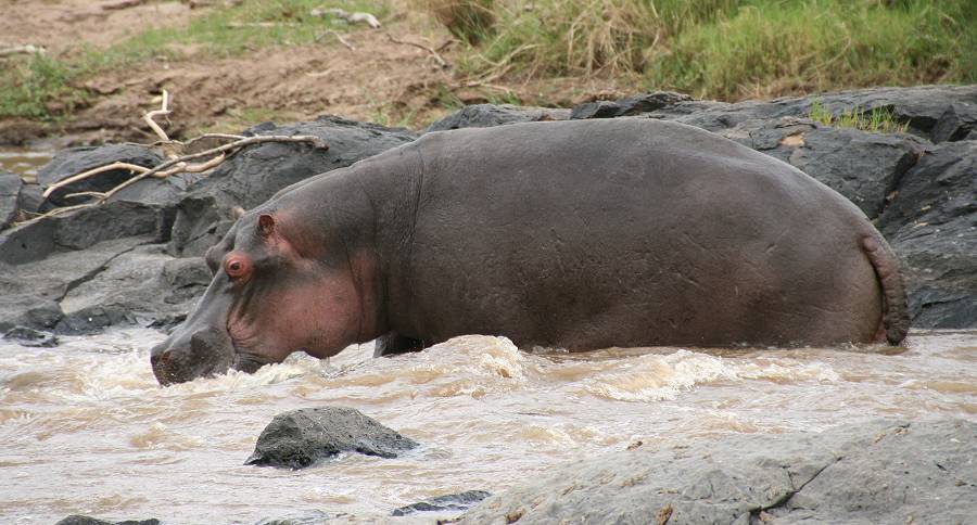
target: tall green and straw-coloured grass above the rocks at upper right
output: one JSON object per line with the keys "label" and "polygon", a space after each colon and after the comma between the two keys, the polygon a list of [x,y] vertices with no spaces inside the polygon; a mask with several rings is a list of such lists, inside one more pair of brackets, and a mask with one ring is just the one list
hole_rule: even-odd
{"label": "tall green and straw-coloured grass above the rocks at upper right", "polygon": [[631,75],[738,100],[977,82],[973,0],[509,0],[460,67],[509,78]]}

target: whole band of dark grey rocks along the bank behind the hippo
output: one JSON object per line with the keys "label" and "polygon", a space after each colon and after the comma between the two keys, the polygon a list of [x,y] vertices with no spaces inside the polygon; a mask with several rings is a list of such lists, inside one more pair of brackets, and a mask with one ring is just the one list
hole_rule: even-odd
{"label": "whole band of dark grey rocks along the bank behind the hippo", "polygon": [[[841,115],[885,110],[905,132],[834,127],[812,106]],[[977,326],[977,86],[880,88],[820,97],[723,103],[656,92],[573,108],[467,106],[426,132],[526,120],[663,118],[714,131],[787,162],[840,192],[873,219],[901,256],[913,325]],[[418,133],[337,117],[244,135],[314,135],[326,151],[265,143],[210,176],[140,181],[104,205],[15,225],[128,177],[100,174],[47,200],[41,187],[0,175],[0,331],[60,334],[111,325],[179,322],[210,281],[201,257],[232,223],[278,190],[414,140]],[[491,146],[486,145],[486,146]],[[502,153],[500,153],[502,154]],[[51,184],[93,166],[139,165],[158,155],[134,145],[60,152],[38,174]]]}

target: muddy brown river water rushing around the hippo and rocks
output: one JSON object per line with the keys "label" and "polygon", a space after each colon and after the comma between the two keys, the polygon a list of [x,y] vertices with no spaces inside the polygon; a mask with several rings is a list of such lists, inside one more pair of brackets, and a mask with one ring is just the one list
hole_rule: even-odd
{"label": "muddy brown river water rushing around the hippo and rocks", "polygon": [[[58,348],[0,340],[0,522],[73,513],[255,523],[320,510],[493,492],[558,463],[732,433],[822,431],[876,417],[977,420],[977,331],[914,332],[906,348],[523,353],[465,336],[372,359],[305,355],[254,375],[161,388],[131,329]],[[345,456],[304,471],[243,466],[262,428],[301,407],[354,407],[420,441],[397,459]]]}

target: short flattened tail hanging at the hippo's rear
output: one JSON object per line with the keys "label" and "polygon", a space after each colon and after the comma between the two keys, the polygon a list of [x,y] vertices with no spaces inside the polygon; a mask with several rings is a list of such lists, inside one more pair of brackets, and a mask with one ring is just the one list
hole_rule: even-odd
{"label": "short flattened tail hanging at the hippo's rear", "polygon": [[910,328],[909,304],[902,271],[899,269],[899,257],[878,231],[873,231],[862,239],[862,248],[875,268],[885,303],[877,338],[881,340],[885,334],[889,344],[898,345],[905,338]]}

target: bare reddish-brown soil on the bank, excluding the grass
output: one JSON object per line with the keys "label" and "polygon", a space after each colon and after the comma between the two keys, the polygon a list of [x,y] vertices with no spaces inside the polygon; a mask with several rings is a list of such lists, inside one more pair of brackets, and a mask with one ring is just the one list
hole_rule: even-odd
{"label": "bare reddish-brown soil on the bank, excluding the grass", "polygon": [[[116,3],[0,0],[0,44],[42,46],[55,55],[80,44],[103,48],[144,28],[187,24],[212,9],[173,1],[103,9]],[[141,116],[158,106],[162,89],[173,95],[167,131],[174,138],[322,114],[423,128],[460,104],[515,101],[566,106],[623,93],[614,80],[597,78],[480,84],[452,66],[459,43],[447,30],[408,0],[394,0],[391,7],[383,27],[356,26],[343,34],[348,47],[334,34],[325,34],[312,46],[257,49],[236,57],[183,47],[180,60],[161,56],[88,79],[84,84],[91,95],[88,106],[55,124],[0,120],[0,144],[52,135],[67,136],[69,143],[154,140]],[[391,37],[441,50],[449,67],[439,67],[429,51],[395,43]]]}

